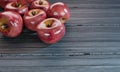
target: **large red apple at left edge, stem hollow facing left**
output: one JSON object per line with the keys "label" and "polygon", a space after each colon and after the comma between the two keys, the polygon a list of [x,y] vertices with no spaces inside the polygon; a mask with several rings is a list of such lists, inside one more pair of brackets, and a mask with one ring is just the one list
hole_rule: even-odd
{"label": "large red apple at left edge, stem hollow facing left", "polygon": [[22,17],[13,11],[0,13],[0,33],[7,37],[16,37],[22,32]]}

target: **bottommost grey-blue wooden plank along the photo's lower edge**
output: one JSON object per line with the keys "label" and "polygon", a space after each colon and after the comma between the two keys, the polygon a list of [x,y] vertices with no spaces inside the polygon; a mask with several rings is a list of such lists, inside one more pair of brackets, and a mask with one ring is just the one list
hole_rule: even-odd
{"label": "bottommost grey-blue wooden plank along the photo's lower edge", "polygon": [[119,66],[1,67],[1,72],[119,72]]}

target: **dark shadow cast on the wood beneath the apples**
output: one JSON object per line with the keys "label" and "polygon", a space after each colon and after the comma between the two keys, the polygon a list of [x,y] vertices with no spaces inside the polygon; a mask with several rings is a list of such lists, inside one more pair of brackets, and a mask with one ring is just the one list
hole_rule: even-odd
{"label": "dark shadow cast on the wood beneath the apples", "polygon": [[43,43],[36,32],[24,30],[16,38],[8,38],[0,34],[0,53],[26,53],[46,48],[50,45]]}

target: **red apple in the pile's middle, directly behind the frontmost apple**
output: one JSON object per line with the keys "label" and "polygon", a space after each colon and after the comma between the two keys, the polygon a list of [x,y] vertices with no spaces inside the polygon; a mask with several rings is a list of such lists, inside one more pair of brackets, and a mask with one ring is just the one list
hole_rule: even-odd
{"label": "red apple in the pile's middle, directly behind the frontmost apple", "polygon": [[46,13],[41,9],[31,9],[24,15],[23,19],[28,29],[36,31],[38,23],[46,19]]}

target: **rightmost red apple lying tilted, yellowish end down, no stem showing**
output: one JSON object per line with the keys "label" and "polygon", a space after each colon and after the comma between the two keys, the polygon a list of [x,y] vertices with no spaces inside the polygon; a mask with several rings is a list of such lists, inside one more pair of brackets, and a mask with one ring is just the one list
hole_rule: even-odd
{"label": "rightmost red apple lying tilted, yellowish end down, no stem showing", "polygon": [[49,17],[57,18],[62,23],[65,23],[70,18],[70,10],[63,2],[52,4],[47,13]]}

